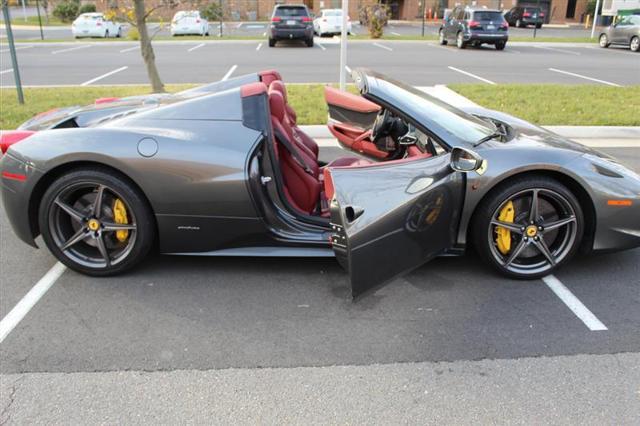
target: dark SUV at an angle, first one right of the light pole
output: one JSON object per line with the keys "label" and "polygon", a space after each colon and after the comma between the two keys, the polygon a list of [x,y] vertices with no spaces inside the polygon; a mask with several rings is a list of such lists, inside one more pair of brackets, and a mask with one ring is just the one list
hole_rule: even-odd
{"label": "dark SUV at an angle, first one right of the light pole", "polygon": [[440,44],[454,41],[459,49],[468,44],[493,44],[503,50],[509,40],[509,24],[499,10],[457,6],[442,21],[438,32]]}

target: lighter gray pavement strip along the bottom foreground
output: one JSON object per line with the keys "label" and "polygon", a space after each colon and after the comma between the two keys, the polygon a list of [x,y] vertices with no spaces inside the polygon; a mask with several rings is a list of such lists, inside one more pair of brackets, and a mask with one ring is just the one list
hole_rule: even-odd
{"label": "lighter gray pavement strip along the bottom foreground", "polygon": [[0,423],[623,425],[640,418],[638,383],[637,353],[10,374]]}

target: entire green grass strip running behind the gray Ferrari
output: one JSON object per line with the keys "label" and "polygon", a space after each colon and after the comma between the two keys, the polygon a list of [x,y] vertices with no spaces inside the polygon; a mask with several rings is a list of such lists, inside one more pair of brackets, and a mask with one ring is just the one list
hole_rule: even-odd
{"label": "entire green grass strip running behind the gray Ferrari", "polygon": [[[193,85],[169,84],[177,92]],[[640,86],[605,87],[551,84],[454,84],[451,89],[485,107],[504,111],[541,125],[640,126]],[[299,124],[324,124],[327,106],[321,84],[290,84],[289,102]],[[356,92],[355,86],[349,91]],[[65,87],[25,89],[25,105],[18,105],[14,89],[0,90],[0,129],[15,129],[51,108],[87,105],[101,97],[149,93],[149,86]]]}

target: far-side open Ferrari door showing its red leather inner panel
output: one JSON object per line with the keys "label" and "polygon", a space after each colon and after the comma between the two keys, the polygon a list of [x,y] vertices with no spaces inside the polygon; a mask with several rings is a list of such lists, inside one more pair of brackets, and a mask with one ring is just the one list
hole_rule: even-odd
{"label": "far-side open Ferrari door showing its red leather inner panel", "polygon": [[389,156],[371,140],[371,128],[380,106],[353,93],[325,86],[324,98],[329,108],[329,131],[345,149],[381,160]]}

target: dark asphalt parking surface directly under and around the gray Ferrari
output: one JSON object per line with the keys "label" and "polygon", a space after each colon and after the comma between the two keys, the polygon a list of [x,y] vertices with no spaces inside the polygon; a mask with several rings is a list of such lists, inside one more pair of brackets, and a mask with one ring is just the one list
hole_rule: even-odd
{"label": "dark asphalt parking surface directly under and around the gray Ferrari", "polygon": [[[322,158],[341,154],[322,148]],[[633,148],[608,150],[640,170]],[[0,217],[2,317],[55,263]],[[2,373],[368,365],[635,351],[640,250],[578,257],[542,280],[439,258],[356,303],[332,259],[152,256],[113,278],[67,270],[0,345]]]}

